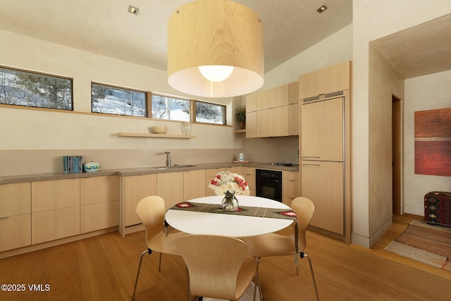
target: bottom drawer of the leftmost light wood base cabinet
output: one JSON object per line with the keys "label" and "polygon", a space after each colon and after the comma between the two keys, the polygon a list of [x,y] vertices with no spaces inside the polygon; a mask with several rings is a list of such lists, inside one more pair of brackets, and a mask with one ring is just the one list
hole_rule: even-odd
{"label": "bottom drawer of the leftmost light wood base cabinet", "polygon": [[31,214],[0,219],[0,252],[31,245]]}

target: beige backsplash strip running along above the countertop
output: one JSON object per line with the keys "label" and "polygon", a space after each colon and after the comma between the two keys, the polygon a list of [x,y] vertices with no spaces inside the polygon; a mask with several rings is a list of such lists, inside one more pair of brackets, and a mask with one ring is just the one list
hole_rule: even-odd
{"label": "beige backsplash strip running along above the countertop", "polygon": [[297,136],[243,139],[242,149],[12,149],[0,150],[0,176],[63,173],[63,156],[83,156],[101,169],[163,166],[171,152],[172,164],[231,162],[238,154],[245,160],[297,164]]}

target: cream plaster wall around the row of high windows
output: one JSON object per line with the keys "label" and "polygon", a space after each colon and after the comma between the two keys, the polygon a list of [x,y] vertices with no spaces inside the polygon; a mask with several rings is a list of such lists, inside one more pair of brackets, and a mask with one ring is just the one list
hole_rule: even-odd
{"label": "cream plaster wall around the row of high windows", "polygon": [[[118,137],[119,132],[149,133],[152,125],[168,125],[168,133],[180,134],[180,123],[139,118],[94,116],[91,111],[91,82],[162,92],[178,96],[166,80],[166,72],[112,59],[87,51],[0,30],[0,66],[10,66],[73,78],[74,111],[55,113],[0,108],[0,149],[146,149],[209,148],[235,149],[241,138],[233,128],[197,125],[195,139],[149,139]],[[201,99],[202,100],[202,99]],[[211,99],[210,99],[211,101]],[[215,99],[228,106],[228,124],[233,117],[233,99]]]}

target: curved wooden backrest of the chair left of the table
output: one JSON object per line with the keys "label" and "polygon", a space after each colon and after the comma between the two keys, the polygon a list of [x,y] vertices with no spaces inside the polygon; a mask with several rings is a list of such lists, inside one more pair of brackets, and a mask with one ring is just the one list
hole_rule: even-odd
{"label": "curved wooden backrest of the chair left of the table", "polygon": [[[158,195],[144,197],[137,204],[136,213],[146,228],[146,240],[150,242],[164,230],[164,199]],[[149,245],[149,244],[148,244]]]}

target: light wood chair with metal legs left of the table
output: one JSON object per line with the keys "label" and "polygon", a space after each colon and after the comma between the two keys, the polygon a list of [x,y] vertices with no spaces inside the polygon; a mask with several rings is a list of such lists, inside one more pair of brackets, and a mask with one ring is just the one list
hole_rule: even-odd
{"label": "light wood chair with metal legs left of the table", "polygon": [[177,249],[177,240],[183,235],[187,235],[186,233],[179,231],[171,231],[168,233],[167,226],[164,221],[164,200],[158,195],[152,195],[141,199],[137,204],[136,213],[140,217],[140,220],[146,229],[147,250],[142,252],[140,257],[140,264],[138,265],[132,300],[135,300],[136,287],[138,284],[138,278],[140,277],[142,257],[144,257],[144,254],[159,252],[160,258],[158,270],[161,271],[161,255],[163,253],[180,255]]}

